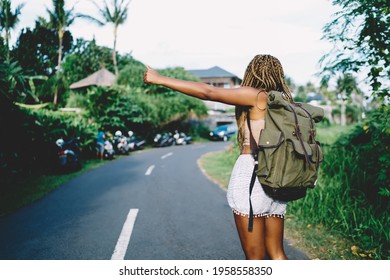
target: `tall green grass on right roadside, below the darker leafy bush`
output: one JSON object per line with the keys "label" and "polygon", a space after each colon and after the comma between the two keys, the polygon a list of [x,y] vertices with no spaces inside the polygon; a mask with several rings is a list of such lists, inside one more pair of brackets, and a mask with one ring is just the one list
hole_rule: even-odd
{"label": "tall green grass on right roadside, below the darker leafy bush", "polygon": [[[350,185],[349,175],[361,172],[356,158],[347,150],[341,154],[330,151],[325,148],[327,163],[320,169],[316,187],[304,199],[290,202],[289,212],[351,239],[362,258],[388,259],[389,212],[371,205],[363,193],[355,193]],[[348,168],[351,173],[330,172],[331,168]]]}

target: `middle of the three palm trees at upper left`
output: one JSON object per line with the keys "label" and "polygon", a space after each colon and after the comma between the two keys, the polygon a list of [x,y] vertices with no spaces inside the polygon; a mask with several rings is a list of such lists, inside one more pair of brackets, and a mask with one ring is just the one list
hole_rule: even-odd
{"label": "middle of the three palm trees at upper left", "polygon": [[[78,15],[74,14],[74,8],[70,10],[65,9],[65,0],[52,0],[53,10],[46,8],[47,12],[50,15],[50,25],[55,28],[58,32],[58,63],[57,63],[57,78],[61,72],[61,62],[62,62],[62,41],[64,38],[64,33],[66,28],[70,26]],[[57,105],[58,98],[58,87],[55,87],[54,90],[54,106]]]}

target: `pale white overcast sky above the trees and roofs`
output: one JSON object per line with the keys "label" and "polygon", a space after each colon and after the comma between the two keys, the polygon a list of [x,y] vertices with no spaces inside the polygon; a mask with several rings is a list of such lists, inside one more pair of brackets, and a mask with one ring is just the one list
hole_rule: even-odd
{"label": "pale white overcast sky above the trees and roofs", "polygon": [[[13,8],[20,3],[25,6],[12,42],[38,16],[48,19],[46,7],[52,9],[51,0],[12,0]],[[75,3],[76,12],[98,15],[88,0],[67,0],[66,8]],[[254,55],[267,53],[280,59],[295,83],[317,83],[318,61],[331,49],[321,40],[322,27],[336,11],[330,0],[132,0],[117,48],[155,68],[217,65],[239,77]],[[70,31],[113,45],[112,26],[78,19]]]}

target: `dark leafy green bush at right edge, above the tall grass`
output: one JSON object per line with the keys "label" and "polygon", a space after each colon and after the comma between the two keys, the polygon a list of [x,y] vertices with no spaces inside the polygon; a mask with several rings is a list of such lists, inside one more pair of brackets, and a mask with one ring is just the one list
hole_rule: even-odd
{"label": "dark leafy green bush at right edge, above the tall grass", "polygon": [[[390,110],[389,106],[382,106],[349,134],[340,137],[332,147],[331,155],[348,153],[358,168],[352,171],[349,166],[334,162],[325,168],[331,170],[330,176],[348,174],[352,191],[363,192],[374,205],[382,204],[379,190],[390,186],[389,143]],[[335,169],[331,167],[333,165],[336,165]]]}

